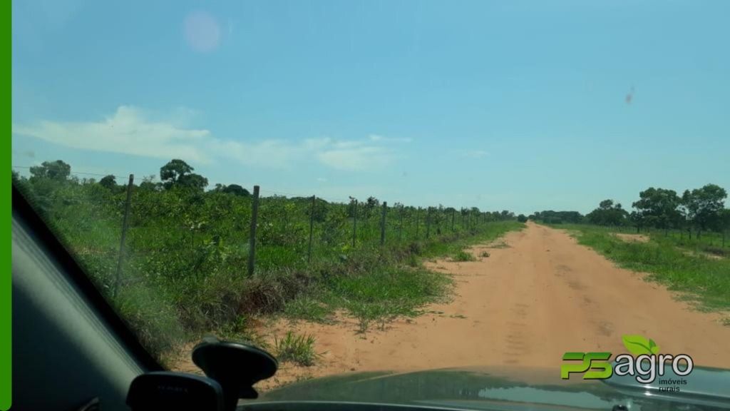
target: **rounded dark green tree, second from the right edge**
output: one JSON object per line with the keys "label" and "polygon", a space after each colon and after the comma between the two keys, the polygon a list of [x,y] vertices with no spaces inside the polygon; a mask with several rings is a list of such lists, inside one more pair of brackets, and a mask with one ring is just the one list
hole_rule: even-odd
{"label": "rounded dark green tree, second from the right edge", "polygon": [[634,218],[641,225],[664,229],[679,227],[682,221],[680,204],[681,199],[675,190],[649,187],[639,192],[639,200],[632,204],[637,209]]}

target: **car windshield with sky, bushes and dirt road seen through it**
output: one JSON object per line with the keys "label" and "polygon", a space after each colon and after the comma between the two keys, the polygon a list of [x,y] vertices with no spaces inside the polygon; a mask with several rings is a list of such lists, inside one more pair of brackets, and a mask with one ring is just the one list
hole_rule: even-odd
{"label": "car windshield with sky, bushes and dirt road seen through it", "polygon": [[168,369],[730,369],[729,13],[15,1],[12,178]]}

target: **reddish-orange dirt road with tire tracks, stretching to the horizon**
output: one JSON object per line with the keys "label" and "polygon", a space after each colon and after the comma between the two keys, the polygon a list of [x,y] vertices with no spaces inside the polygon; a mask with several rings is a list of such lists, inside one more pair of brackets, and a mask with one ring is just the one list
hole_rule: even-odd
{"label": "reddish-orange dirt road with tire tracks, stretching to the horizon", "polygon": [[[460,366],[559,369],[566,351],[626,352],[623,334],[654,339],[661,352],[688,354],[697,365],[730,368],[730,327],[721,314],[691,309],[661,285],[613,263],[561,230],[529,223],[518,233],[475,246],[479,261],[437,261],[429,268],[456,279],[450,303],[429,314],[356,333],[354,320],[334,325],[281,321],[316,337],[318,365],[283,364],[267,385],[347,372],[412,371]],[[504,245],[506,244],[506,246]]]}

